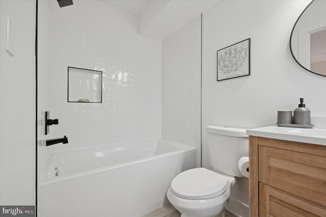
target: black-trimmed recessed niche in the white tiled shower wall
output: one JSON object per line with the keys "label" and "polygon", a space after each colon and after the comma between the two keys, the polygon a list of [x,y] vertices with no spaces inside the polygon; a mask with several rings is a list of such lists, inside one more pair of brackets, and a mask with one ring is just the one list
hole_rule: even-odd
{"label": "black-trimmed recessed niche in the white tiled shower wall", "polygon": [[102,102],[102,72],[68,67],[68,102]]}

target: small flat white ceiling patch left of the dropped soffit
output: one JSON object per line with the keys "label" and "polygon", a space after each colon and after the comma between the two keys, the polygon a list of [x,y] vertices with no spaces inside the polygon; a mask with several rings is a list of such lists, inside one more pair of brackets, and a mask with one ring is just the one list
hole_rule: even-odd
{"label": "small flat white ceiling patch left of the dropped soffit", "polygon": [[[140,16],[151,2],[151,0],[99,0],[105,4],[129,12],[135,16]],[[152,0],[153,1],[153,0]]]}

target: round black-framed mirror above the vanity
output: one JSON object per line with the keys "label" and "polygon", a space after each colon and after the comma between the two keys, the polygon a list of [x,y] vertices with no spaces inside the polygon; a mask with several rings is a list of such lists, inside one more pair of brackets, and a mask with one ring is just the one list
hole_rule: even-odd
{"label": "round black-framed mirror above the vanity", "polygon": [[295,61],[326,76],[326,1],[313,0],[296,20],[290,38]]}

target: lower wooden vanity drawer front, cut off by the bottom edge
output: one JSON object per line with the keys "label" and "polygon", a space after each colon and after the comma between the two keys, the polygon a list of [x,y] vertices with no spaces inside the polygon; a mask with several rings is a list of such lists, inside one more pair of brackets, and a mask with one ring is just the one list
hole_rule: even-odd
{"label": "lower wooden vanity drawer front, cut off by the bottom edge", "polygon": [[259,216],[326,216],[326,207],[259,183]]}

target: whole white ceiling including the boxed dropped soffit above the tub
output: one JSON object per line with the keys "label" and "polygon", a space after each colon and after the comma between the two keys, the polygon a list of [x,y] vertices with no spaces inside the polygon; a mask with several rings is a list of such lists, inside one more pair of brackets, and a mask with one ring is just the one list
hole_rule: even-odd
{"label": "whole white ceiling including the boxed dropped soffit above the tub", "polygon": [[[1,1],[1,0],[0,0]],[[138,33],[164,41],[220,0],[98,0],[138,18]]]}

